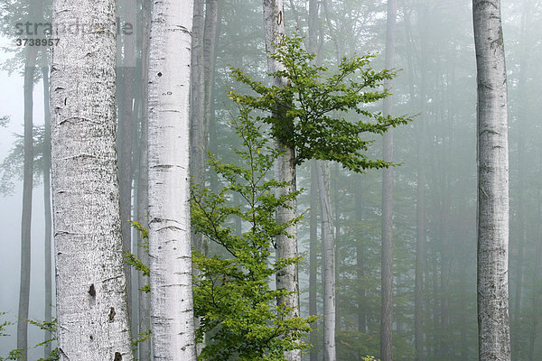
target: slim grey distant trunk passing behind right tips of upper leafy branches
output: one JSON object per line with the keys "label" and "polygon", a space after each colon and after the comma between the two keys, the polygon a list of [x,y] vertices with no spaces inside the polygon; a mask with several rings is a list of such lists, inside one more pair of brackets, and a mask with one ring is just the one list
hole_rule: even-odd
{"label": "slim grey distant trunk passing behind right tips of upper leafy branches", "polygon": [[[395,32],[397,18],[396,0],[388,0],[388,21],[386,29],[386,69],[395,66]],[[388,80],[386,88],[392,88]],[[384,116],[391,114],[392,98],[384,99]],[[384,134],[384,161],[393,161],[393,135],[391,130]],[[382,172],[382,254],[381,254],[381,317],[380,317],[380,358],[393,359],[393,172],[390,168]]]}

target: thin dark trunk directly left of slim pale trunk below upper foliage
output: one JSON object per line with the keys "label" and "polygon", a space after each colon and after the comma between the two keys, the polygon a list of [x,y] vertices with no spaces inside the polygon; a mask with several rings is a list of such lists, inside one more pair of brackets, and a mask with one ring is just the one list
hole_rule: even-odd
{"label": "thin dark trunk directly left of slim pale trunk below upper foliage", "polygon": [[[316,296],[318,293],[317,273],[317,247],[318,247],[318,173],[316,171],[316,160],[311,161],[311,218],[309,225],[310,245],[309,245],[309,315],[316,316],[318,314]],[[318,361],[318,342],[316,329],[318,329],[318,321],[314,321],[311,325],[313,330],[310,333],[311,347],[310,361]]]}

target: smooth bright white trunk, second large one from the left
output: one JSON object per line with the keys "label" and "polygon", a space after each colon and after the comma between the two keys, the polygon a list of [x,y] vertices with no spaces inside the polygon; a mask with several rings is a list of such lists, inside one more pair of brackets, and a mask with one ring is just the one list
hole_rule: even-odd
{"label": "smooth bright white trunk, second large one from the left", "polygon": [[149,255],[154,360],[196,359],[190,236],[192,0],[154,3],[149,66]]}

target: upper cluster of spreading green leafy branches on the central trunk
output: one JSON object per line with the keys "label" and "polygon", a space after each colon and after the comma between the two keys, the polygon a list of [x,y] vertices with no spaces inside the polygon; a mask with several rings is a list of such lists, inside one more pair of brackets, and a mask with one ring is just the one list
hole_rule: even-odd
{"label": "upper cluster of spreading green leafy branches on the central trunk", "polygon": [[[314,55],[304,51],[303,39],[285,37],[271,56],[284,65],[284,70],[270,74],[287,79],[288,87],[267,87],[240,70],[231,69],[232,76],[252,88],[256,95],[239,94],[235,89],[229,97],[239,106],[266,112],[261,120],[271,125],[273,136],[280,143],[294,148],[295,164],[310,159],[340,162],[350,171],[394,165],[369,160],[364,153],[369,140],[360,134],[384,134],[390,127],[406,124],[405,116],[382,116],[367,110],[369,103],[388,97],[387,89],[378,90],[395,72],[370,68],[372,55],[344,58],[338,72],[324,78],[329,69],[315,65]],[[349,122],[341,113],[354,111],[362,120]],[[260,120],[259,118],[257,120]]]}

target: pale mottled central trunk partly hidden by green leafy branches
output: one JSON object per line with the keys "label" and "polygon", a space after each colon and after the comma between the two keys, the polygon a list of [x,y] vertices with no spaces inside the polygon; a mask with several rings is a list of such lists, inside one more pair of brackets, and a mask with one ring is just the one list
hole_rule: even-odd
{"label": "pale mottled central trunk partly hidden by green leafy branches", "polygon": [[[275,44],[281,41],[285,36],[285,15],[283,0],[264,0],[264,23],[266,30],[266,51],[273,53],[276,50]],[[269,72],[275,72],[284,69],[284,66],[277,60],[267,56],[267,68]],[[285,88],[288,86],[287,80],[274,77],[273,85],[276,87]],[[284,109],[277,109],[277,115]],[[285,125],[286,127],[288,125]],[[277,147],[283,150],[283,153],[276,161],[276,180],[286,182],[288,185],[285,188],[278,190],[278,196],[287,194],[296,190],[296,175],[295,175],[295,151],[293,147],[287,146],[280,139],[276,140]],[[291,221],[296,217],[296,202],[290,201],[289,208],[278,208],[276,211],[276,221],[278,224],[283,224]],[[289,236],[276,237],[276,258],[291,258],[297,255],[297,230],[296,227],[290,226],[285,229]],[[276,273],[276,288],[285,289],[292,292],[289,295],[278,300],[279,304],[286,304],[292,308],[291,317],[299,317],[299,282],[297,274],[297,265],[290,264]],[[301,350],[293,350],[285,353],[288,361],[300,361]]]}

